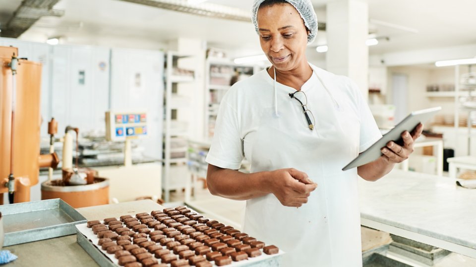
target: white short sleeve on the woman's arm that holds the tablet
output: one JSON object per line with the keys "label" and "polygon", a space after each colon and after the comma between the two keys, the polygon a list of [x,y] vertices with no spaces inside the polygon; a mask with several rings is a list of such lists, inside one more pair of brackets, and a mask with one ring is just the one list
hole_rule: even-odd
{"label": "white short sleeve on the woman's arm that holds the tablet", "polygon": [[360,139],[358,153],[362,153],[372,144],[378,141],[378,139],[382,138],[382,134],[378,129],[377,123],[373,118],[367,101],[365,101],[362,93],[354,82],[352,82],[352,86],[357,95],[357,108],[360,116]]}

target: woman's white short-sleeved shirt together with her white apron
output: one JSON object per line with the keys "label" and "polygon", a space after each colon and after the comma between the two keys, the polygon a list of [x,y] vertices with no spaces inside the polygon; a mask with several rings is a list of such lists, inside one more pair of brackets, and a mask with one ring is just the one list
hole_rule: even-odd
{"label": "woman's white short-sleeved shirt together with her white apron", "polygon": [[263,70],[226,93],[206,161],[237,170],[246,157],[251,173],[305,172],[318,184],[308,203],[297,209],[281,205],[273,194],[250,199],[243,231],[284,250],[286,267],[361,266],[357,168],[342,168],[381,134],[349,78],[311,67],[314,73],[301,90],[314,130],[289,96],[295,89],[278,83],[275,103],[274,80]]}

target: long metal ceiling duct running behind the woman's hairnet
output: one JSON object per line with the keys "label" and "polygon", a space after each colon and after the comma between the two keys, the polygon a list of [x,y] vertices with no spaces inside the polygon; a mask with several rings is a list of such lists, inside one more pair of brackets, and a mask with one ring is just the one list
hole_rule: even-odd
{"label": "long metal ceiling duct running behind the woman's hairnet", "polygon": [[[250,10],[214,3],[189,3],[187,0],[122,0],[188,14],[251,22]],[[319,22],[319,30],[325,31],[326,24]]]}

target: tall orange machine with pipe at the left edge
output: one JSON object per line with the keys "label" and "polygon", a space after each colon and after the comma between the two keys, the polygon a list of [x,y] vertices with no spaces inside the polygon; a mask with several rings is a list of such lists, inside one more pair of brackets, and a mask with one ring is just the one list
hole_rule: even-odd
{"label": "tall orange machine with pipe at the left edge", "polygon": [[19,59],[13,75],[11,63],[16,55],[17,48],[0,46],[0,204],[11,174],[14,203],[27,202],[30,187],[38,183],[39,168],[58,165],[55,153],[40,155],[41,63]]}

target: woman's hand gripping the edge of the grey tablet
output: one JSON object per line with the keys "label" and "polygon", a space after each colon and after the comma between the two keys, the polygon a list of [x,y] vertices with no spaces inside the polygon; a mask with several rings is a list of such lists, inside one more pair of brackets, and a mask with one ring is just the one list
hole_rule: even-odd
{"label": "woman's hand gripping the edge of the grey tablet", "polygon": [[423,125],[420,123],[416,126],[412,134],[407,131],[402,133],[404,141],[403,146],[400,146],[393,141],[388,142],[387,146],[380,150],[383,153],[382,157],[384,160],[388,163],[400,163],[408,159],[410,154],[413,153],[415,140],[420,137],[421,132],[423,132]]}

